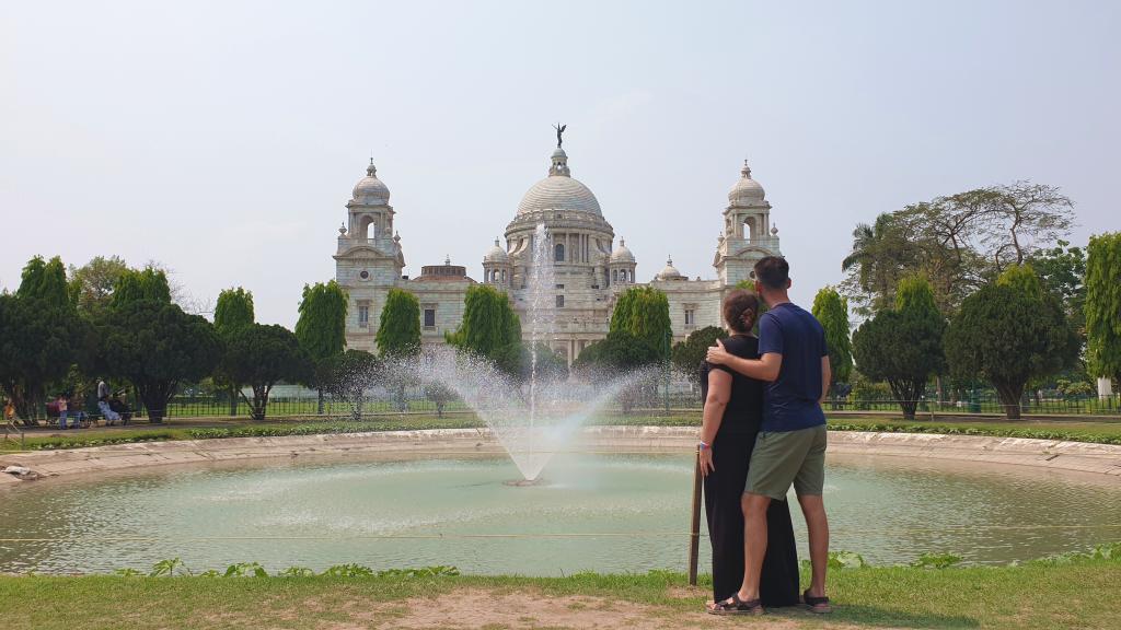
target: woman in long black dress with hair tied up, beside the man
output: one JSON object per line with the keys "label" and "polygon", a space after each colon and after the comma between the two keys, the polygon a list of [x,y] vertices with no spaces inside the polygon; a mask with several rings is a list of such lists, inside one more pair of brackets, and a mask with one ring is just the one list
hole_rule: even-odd
{"label": "woman in long black dress with hair tied up, beside the man", "polygon": [[[759,340],[751,334],[759,314],[759,298],[736,289],[721,307],[731,336],[728,352],[757,359]],[[730,601],[743,582],[743,511],[740,507],[748,480],[748,464],[762,420],[760,381],[707,362],[701,368],[704,423],[701,427],[701,472],[704,474],[705,512],[712,540],[713,603],[708,612],[745,612]],[[760,600],[768,608],[798,604],[798,550],[786,501],[771,501],[767,510],[767,556]]]}

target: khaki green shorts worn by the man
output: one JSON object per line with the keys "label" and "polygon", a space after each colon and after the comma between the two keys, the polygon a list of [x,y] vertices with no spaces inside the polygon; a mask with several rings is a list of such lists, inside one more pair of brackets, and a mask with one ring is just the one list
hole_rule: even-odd
{"label": "khaki green shorts worn by the man", "polygon": [[819,495],[825,487],[825,425],[760,433],[743,491],[781,501],[793,483],[799,497]]}

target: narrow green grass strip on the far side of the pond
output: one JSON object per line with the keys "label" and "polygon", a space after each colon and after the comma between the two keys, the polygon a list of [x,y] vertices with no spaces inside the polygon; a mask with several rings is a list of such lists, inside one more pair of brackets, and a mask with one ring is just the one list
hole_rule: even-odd
{"label": "narrow green grass strip on the far side of the pond", "polygon": [[[698,426],[700,411],[673,413],[668,416],[605,414],[593,418],[590,424]],[[245,418],[175,418],[167,420],[164,425],[136,424],[129,427],[98,427],[68,432],[46,428],[31,429],[27,434],[26,448],[77,448],[83,446],[167,439],[309,435],[367,430],[475,428],[481,426],[483,426],[483,423],[473,414],[448,414],[443,418],[425,414],[385,415],[370,416],[362,421],[352,421],[337,417],[322,420],[308,417],[277,418],[267,421],[252,421]],[[883,415],[833,415],[830,417],[830,428],[833,430],[995,435],[1121,444],[1121,419],[1023,419],[1010,421],[992,418],[979,420],[946,418],[906,421],[898,417]],[[20,442],[15,436],[6,442],[0,442],[0,452],[18,451],[20,448]]]}

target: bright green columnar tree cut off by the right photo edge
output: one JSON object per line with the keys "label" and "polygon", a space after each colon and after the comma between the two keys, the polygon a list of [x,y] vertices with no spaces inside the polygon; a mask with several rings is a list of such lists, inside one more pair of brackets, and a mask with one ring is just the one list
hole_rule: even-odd
{"label": "bright green columnar tree cut off by the right photo edge", "polygon": [[1090,239],[1085,284],[1091,372],[1121,386],[1121,232]]}

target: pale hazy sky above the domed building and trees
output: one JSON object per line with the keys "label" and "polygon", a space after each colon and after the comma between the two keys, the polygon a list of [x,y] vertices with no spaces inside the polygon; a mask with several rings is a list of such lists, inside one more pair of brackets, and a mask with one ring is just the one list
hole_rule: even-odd
{"label": "pale hazy sky above the domed building and trees", "polygon": [[573,175],[648,280],[712,268],[749,158],[795,299],[856,222],[1030,178],[1121,229],[1118,2],[4,2],[0,286],[155,259],[293,325],[372,156],[406,272],[481,260]]}

